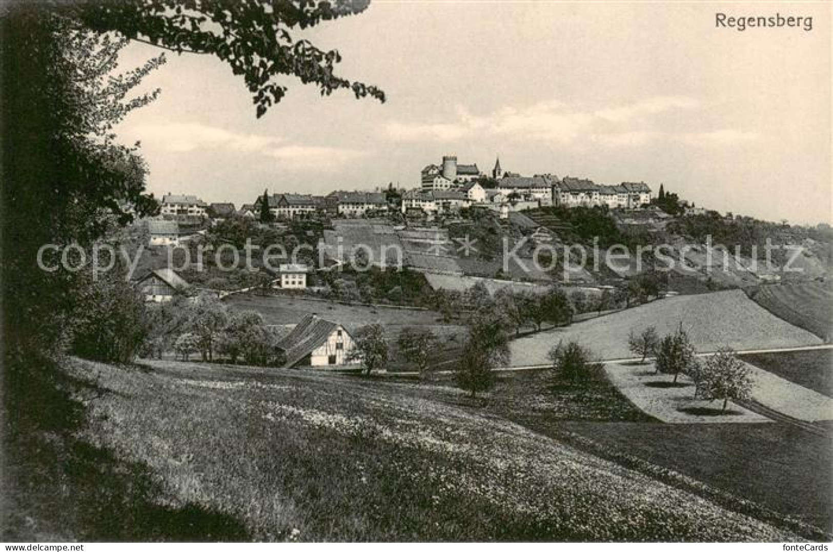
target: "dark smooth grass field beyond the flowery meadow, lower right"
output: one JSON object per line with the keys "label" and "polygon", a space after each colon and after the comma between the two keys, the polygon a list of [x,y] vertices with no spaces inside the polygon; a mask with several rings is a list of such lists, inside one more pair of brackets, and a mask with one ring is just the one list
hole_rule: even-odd
{"label": "dark smooth grass field beyond the flowery meadow, lower right", "polygon": [[604,448],[635,455],[833,530],[833,445],[790,425],[566,423]]}

